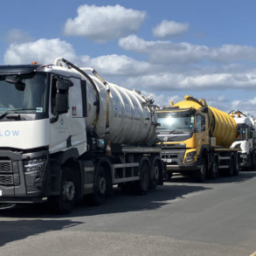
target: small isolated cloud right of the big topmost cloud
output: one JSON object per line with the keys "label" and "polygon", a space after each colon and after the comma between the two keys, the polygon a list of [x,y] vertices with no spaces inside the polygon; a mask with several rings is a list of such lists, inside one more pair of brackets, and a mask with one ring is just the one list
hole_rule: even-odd
{"label": "small isolated cloud right of the big topmost cloud", "polygon": [[168,36],[176,36],[189,29],[187,23],[177,23],[175,21],[163,20],[161,24],[153,28],[152,33],[156,38],[166,38]]}

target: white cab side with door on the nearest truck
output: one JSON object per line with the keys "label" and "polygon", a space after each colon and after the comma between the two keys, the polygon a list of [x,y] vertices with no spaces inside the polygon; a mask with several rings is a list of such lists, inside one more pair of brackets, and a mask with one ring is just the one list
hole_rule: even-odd
{"label": "white cab side with door on the nearest truck", "polygon": [[[67,80],[71,86],[67,90],[57,88],[58,80]],[[60,92],[58,92],[60,91]],[[58,114],[55,111],[58,93],[67,93],[68,107],[66,113]],[[61,96],[61,95],[60,95]],[[85,143],[86,128],[83,118],[81,80],[64,78],[52,74],[51,100],[50,100],[50,152],[68,149],[73,145]]]}

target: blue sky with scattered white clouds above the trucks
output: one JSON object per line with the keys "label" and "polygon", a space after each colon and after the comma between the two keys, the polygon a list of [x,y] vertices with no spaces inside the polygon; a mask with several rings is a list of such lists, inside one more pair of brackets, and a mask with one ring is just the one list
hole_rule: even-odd
{"label": "blue sky with scattered white clouds above the trucks", "polygon": [[0,64],[65,57],[152,95],[256,116],[256,2],[1,2]]}

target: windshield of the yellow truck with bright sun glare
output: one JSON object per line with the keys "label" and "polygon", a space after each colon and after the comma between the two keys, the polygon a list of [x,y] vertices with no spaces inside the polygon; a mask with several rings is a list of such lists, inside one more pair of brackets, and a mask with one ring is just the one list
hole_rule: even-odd
{"label": "windshield of the yellow truck with bright sun glare", "polygon": [[181,132],[194,128],[194,115],[184,113],[157,113],[160,131]]}

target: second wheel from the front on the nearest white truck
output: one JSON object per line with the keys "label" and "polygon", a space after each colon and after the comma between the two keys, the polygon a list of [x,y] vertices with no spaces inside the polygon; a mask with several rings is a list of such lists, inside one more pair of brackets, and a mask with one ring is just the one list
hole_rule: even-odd
{"label": "second wheel from the front on the nearest white truck", "polygon": [[103,204],[107,195],[107,176],[102,166],[98,166],[94,176],[93,194],[88,195],[90,204],[100,205]]}

